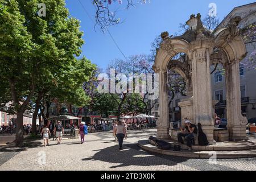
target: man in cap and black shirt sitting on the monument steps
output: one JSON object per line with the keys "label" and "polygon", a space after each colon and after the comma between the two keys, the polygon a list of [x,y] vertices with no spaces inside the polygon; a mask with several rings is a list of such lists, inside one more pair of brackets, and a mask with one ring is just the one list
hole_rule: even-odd
{"label": "man in cap and black shirt sitting on the monument steps", "polygon": [[185,121],[185,129],[180,127],[181,133],[177,134],[179,144],[184,144],[182,137],[185,137],[187,141],[188,150],[192,150],[192,140],[197,134],[196,125],[191,124],[190,121]]}

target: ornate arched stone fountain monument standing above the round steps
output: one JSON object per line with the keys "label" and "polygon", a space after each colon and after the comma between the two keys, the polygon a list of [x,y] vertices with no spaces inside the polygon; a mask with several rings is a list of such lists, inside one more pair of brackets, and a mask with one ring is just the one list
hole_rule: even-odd
{"label": "ornate arched stone fountain monument standing above the round steps", "polygon": [[[187,21],[189,30],[183,35],[172,38],[163,32],[160,48],[157,49],[153,69],[159,73],[159,110],[157,122],[158,137],[171,138],[168,112],[167,71],[174,69],[187,82],[188,98],[179,102],[181,118],[192,123],[201,123],[209,143],[214,144],[214,105],[210,80],[210,65],[220,63],[225,69],[226,110],[229,140],[246,138],[246,117],[241,114],[241,93],[239,64],[246,56],[246,47],[237,28],[240,17],[230,20],[225,28],[213,32],[203,27],[201,15],[191,15]],[[184,63],[172,60],[177,53],[187,57]]]}

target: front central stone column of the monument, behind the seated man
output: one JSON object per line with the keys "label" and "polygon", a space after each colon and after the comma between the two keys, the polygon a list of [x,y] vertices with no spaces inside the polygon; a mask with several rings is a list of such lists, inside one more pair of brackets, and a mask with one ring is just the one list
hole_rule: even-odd
{"label": "front central stone column of the monument, behind the seated man", "polygon": [[[196,42],[196,44],[199,42]],[[200,46],[192,54],[192,84],[193,84],[193,118],[197,125],[201,123],[210,144],[213,139],[213,109],[212,90],[210,80],[209,50]]]}

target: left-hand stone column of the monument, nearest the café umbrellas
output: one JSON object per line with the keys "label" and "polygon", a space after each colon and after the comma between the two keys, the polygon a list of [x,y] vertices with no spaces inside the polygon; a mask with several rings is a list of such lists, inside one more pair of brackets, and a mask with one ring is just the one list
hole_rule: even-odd
{"label": "left-hand stone column of the monument, nearest the caf\u00e9 umbrellas", "polygon": [[170,123],[169,123],[169,109],[168,109],[168,89],[167,89],[167,72],[159,71],[159,110],[160,118],[156,126],[158,131],[158,138],[169,139]]}

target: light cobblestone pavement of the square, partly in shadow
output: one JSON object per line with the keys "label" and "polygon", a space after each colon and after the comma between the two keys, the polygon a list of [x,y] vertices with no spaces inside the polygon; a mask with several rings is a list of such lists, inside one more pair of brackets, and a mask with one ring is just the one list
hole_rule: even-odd
{"label": "light cobblestone pavement of the square, partly in shadow", "polygon": [[43,147],[42,140],[33,141],[24,149],[0,150],[0,170],[256,170],[256,158],[218,159],[210,164],[208,159],[188,159],[155,155],[142,151],[139,139],[154,135],[156,130],[129,131],[122,151],[113,141],[111,132],[93,133],[79,139],[56,140]]}

